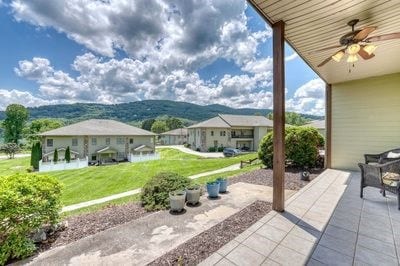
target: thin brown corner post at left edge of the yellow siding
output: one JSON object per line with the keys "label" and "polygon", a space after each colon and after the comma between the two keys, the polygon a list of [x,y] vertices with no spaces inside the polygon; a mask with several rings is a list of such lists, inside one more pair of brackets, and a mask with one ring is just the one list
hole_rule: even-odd
{"label": "thin brown corner post at left edge of the yellow siding", "polygon": [[325,86],[325,168],[332,167],[332,86]]}

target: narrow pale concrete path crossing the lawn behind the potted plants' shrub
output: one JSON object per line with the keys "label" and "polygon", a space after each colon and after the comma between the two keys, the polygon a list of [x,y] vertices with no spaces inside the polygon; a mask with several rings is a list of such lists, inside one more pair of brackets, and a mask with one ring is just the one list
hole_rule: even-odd
{"label": "narrow pale concrete path crossing the lawn behind the potted plants' shrub", "polygon": [[[221,168],[221,169],[217,169],[217,170],[214,170],[214,171],[209,171],[209,172],[204,172],[204,173],[200,173],[200,174],[197,174],[197,175],[192,175],[192,176],[189,176],[189,178],[190,179],[196,179],[196,178],[200,178],[200,177],[203,177],[203,176],[209,176],[209,175],[214,175],[214,174],[219,174],[219,173],[224,173],[224,172],[230,172],[230,171],[235,171],[235,170],[238,170],[238,169],[240,169],[240,164],[234,164],[234,165],[231,165],[231,166],[228,166],[228,167],[224,167],[224,168]],[[65,207],[62,208],[61,213],[78,210],[78,209],[81,209],[81,208],[93,206],[93,205],[100,204],[100,203],[105,203],[105,202],[112,201],[112,200],[115,200],[115,199],[120,199],[120,198],[124,198],[124,197],[128,197],[128,196],[133,196],[135,194],[139,194],[140,191],[141,191],[141,189],[137,188],[137,189],[134,189],[134,190],[123,192],[123,193],[118,193],[118,194],[114,194],[114,195],[111,195],[111,196],[107,196],[107,197],[104,197],[104,198],[85,201],[85,202],[81,202],[81,203],[65,206]]]}

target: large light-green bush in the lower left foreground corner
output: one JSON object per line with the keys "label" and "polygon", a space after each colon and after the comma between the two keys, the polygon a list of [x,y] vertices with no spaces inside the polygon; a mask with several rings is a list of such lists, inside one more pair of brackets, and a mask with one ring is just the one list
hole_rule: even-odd
{"label": "large light-green bush in the lower left foreground corner", "polygon": [[59,218],[61,185],[36,174],[0,177],[0,265],[31,255],[29,234]]}

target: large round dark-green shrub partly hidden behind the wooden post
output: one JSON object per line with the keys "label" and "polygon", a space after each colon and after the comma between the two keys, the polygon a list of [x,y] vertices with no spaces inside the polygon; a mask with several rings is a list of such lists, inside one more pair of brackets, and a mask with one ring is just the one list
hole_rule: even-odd
{"label": "large round dark-green shrub partly hidden behind the wooden post", "polygon": [[[290,126],[285,129],[285,157],[297,167],[313,167],[318,161],[318,147],[323,146],[324,138],[312,127]],[[262,139],[258,157],[263,164],[272,168],[273,134]]]}

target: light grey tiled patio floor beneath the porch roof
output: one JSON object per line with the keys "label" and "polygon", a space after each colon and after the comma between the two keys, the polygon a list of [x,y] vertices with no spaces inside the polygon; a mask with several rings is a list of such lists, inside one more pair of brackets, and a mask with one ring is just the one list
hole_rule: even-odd
{"label": "light grey tiled patio floor beneath the porch roof", "polygon": [[364,189],[360,175],[326,170],[201,265],[399,265],[395,195]]}

